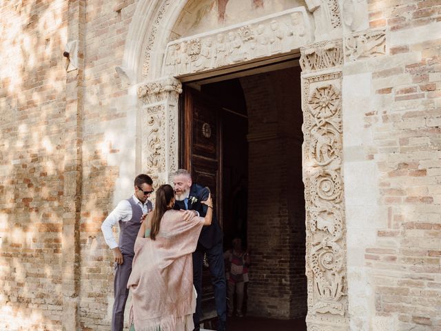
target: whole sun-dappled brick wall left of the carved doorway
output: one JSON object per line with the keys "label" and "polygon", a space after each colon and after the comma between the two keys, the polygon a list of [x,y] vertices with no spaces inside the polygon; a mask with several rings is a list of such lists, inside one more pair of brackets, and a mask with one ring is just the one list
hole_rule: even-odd
{"label": "whole sun-dappled brick wall left of the carved doorway", "polygon": [[[127,156],[136,112],[115,71],[135,5],[116,4],[1,5],[0,57],[8,63],[0,68],[1,329],[61,330],[76,305],[72,323],[109,328],[112,257],[99,227],[130,196],[136,175]],[[78,38],[83,67],[66,74],[65,44]],[[130,181],[118,181],[121,169]]]}

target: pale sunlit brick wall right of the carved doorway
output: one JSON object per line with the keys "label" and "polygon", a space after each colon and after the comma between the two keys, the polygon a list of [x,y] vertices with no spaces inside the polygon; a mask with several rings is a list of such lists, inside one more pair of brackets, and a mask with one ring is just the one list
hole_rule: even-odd
{"label": "pale sunlit brick wall right of the carved doorway", "polygon": [[367,158],[378,167],[384,226],[365,250],[376,314],[396,330],[441,328],[441,3],[369,1],[390,31],[387,66],[372,72]]}

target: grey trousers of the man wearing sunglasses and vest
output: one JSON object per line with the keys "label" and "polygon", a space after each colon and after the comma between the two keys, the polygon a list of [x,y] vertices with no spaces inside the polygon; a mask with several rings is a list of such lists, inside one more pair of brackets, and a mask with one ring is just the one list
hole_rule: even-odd
{"label": "grey trousers of the man wearing sunglasses and vest", "polygon": [[132,272],[133,257],[123,254],[123,264],[115,263],[115,279],[114,294],[115,301],[112,311],[112,331],[123,331],[124,328],[124,309],[127,297],[129,297],[129,289],[127,281]]}

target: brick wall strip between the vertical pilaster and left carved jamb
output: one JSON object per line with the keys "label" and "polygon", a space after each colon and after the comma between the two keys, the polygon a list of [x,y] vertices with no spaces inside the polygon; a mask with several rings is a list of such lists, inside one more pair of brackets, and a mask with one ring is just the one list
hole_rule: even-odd
{"label": "brick wall strip between the vertical pilaster and left carved jamb", "polygon": [[116,203],[131,196],[136,176],[130,157],[136,150],[136,108],[127,101],[127,88],[115,70],[122,63],[135,1],[107,2],[89,1],[85,12],[79,310],[83,330],[110,330],[113,255],[100,227]]}

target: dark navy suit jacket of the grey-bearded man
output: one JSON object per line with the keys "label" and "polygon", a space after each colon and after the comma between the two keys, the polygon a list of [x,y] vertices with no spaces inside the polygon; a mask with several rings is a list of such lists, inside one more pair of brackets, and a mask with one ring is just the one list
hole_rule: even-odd
{"label": "dark navy suit jacket of the grey-bearded man", "polygon": [[[188,209],[196,210],[199,213],[199,216],[205,217],[205,214],[207,214],[208,207],[207,205],[201,203],[201,201],[207,200],[208,193],[209,193],[208,190],[203,186],[198,184],[192,184],[188,199]],[[191,201],[192,197],[196,198],[197,201],[194,201],[194,203],[192,203]],[[176,201],[174,203],[174,209],[176,210],[185,209],[184,201]],[[203,245],[204,248],[209,249],[212,248],[214,245],[216,245],[216,243],[219,243],[220,241],[222,241],[222,230],[220,229],[218,220],[216,219],[216,216],[213,211],[212,225],[204,226],[202,228],[198,243]]]}

